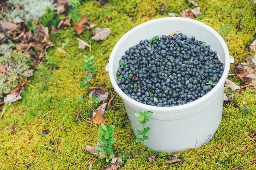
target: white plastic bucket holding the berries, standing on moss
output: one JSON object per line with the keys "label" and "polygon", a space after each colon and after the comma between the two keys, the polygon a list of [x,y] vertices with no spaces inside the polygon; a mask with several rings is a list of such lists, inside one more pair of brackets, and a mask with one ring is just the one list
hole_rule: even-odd
{"label": "white plastic bucket holding the berries, standing on moss", "polygon": [[[205,41],[217,52],[225,67],[218,84],[200,99],[174,107],[145,105],[124,94],[116,84],[116,72],[119,59],[125,51],[140,40],[175,31]],[[137,123],[139,119],[134,116],[135,112],[140,112],[140,109],[153,112],[149,117],[151,121],[146,124],[151,127],[147,133],[149,140],[145,142],[146,146],[157,151],[173,152],[186,150],[188,147],[201,147],[212,139],[221,122],[224,82],[232,59],[226,43],[211,27],[192,19],[165,17],[142,23],[128,31],[113,48],[106,71],[109,71],[113,88],[123,100],[133,130],[142,130],[142,125]]]}

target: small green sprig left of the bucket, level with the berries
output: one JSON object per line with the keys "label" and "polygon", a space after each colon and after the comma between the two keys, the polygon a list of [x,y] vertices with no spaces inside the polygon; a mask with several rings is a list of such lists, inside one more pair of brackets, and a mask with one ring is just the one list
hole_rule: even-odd
{"label": "small green sprig left of the bucket, level with the berries", "polygon": [[94,56],[87,57],[84,55],[84,60],[83,60],[84,66],[82,66],[81,69],[87,70],[87,75],[86,75],[86,78],[80,83],[81,88],[88,85],[88,82],[90,82],[90,80],[93,78],[93,74],[91,74],[89,72],[97,71],[97,68],[93,67],[93,63],[94,63],[93,59],[94,59]]}

